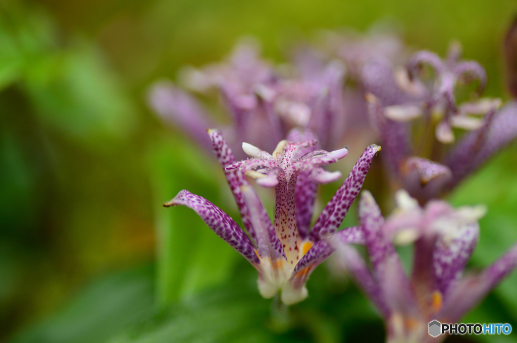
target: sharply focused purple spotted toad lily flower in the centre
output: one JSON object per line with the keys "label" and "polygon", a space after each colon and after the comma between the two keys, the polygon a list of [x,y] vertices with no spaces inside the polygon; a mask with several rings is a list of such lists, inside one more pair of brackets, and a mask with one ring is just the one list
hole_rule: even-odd
{"label": "sharply focused purple spotted toad lily flower in the centre", "polygon": [[[196,211],[212,231],[256,268],[258,290],[264,298],[274,297],[281,291],[281,300],[287,305],[302,301],[308,295],[305,283],[309,275],[334,252],[323,237],[345,243],[363,242],[358,227],[336,231],[357,197],[380,147],[371,145],[366,149],[309,233],[316,194],[312,183],[328,183],[339,178],[339,172],[325,171],[322,166],[344,157],[347,149],[313,150],[317,141],[309,139],[281,141],[277,149],[268,154],[244,143],[244,151],[253,158],[236,162],[221,132],[210,129],[208,134],[237,202],[244,231],[216,205],[186,190],[164,206],[185,205]],[[309,132],[299,131],[290,135],[293,140],[311,136]],[[262,186],[275,187],[274,225],[245,174],[255,177]],[[302,223],[300,228],[298,223]]]}

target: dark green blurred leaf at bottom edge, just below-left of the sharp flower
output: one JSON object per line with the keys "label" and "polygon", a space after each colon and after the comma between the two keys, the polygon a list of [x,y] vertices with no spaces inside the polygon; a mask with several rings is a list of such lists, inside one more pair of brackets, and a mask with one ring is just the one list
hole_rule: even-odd
{"label": "dark green blurred leaf at bottom edge, just below-left of the sharp flower", "polygon": [[110,343],[267,342],[270,301],[249,287],[223,285],[176,303]]}

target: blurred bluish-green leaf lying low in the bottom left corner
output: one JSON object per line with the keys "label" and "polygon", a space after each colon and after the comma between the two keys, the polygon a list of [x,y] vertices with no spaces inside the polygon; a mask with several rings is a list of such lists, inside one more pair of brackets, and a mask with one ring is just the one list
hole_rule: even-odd
{"label": "blurred bluish-green leaf lying low in the bottom left corner", "polygon": [[153,268],[118,272],[79,293],[58,314],[17,334],[12,343],[102,342],[153,308]]}

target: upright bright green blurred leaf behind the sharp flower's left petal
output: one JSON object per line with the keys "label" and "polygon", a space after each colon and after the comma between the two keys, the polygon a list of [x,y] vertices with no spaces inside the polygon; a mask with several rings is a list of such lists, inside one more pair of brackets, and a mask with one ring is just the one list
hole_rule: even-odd
{"label": "upright bright green blurred leaf behind the sharp flower's left petal", "polygon": [[158,237],[157,296],[166,303],[225,280],[240,256],[191,209],[161,206],[188,189],[226,209],[220,190],[228,186],[215,159],[173,136],[151,146],[149,163]]}

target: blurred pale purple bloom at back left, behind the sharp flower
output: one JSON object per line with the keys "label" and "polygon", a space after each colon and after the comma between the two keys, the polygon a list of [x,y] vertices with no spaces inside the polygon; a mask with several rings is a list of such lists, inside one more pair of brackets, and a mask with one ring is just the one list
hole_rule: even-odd
{"label": "blurred pale purple bloom at back left, behind the sharp flower", "polygon": [[[257,44],[241,43],[222,63],[186,70],[183,79],[188,88],[205,95],[219,93],[230,124],[217,122],[195,96],[171,82],[151,87],[149,106],[205,150],[211,150],[204,134],[209,127],[220,128],[234,150],[245,140],[273,150],[295,127],[312,129],[322,147],[331,150],[343,133],[344,66],[303,56],[291,75],[283,75],[260,56]],[[240,148],[236,155],[244,157]]]}

